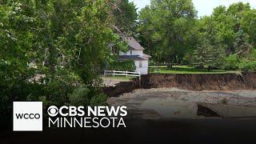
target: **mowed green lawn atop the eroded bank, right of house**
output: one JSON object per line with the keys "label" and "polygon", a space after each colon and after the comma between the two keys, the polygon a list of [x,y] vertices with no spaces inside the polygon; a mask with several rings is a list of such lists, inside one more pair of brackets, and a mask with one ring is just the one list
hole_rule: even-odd
{"label": "mowed green lawn atop the eroded bank, right of house", "polygon": [[150,66],[150,72],[153,74],[240,74],[240,71],[231,70],[208,70],[196,69],[193,66],[173,66],[172,69],[167,66]]}

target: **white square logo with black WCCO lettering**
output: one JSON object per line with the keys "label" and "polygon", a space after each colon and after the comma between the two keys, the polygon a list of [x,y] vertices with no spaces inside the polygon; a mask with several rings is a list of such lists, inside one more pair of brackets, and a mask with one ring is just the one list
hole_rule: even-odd
{"label": "white square logo with black WCCO lettering", "polygon": [[42,102],[14,102],[14,131],[42,131]]}

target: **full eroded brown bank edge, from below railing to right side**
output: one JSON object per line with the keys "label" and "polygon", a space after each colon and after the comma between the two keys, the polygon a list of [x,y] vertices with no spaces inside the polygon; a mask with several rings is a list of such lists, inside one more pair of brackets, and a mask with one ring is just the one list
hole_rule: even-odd
{"label": "full eroded brown bank edge, from below railing to right side", "polygon": [[130,82],[105,80],[103,88],[109,97],[116,97],[138,88],[173,88],[182,90],[256,90],[256,73],[243,74],[149,74]]}

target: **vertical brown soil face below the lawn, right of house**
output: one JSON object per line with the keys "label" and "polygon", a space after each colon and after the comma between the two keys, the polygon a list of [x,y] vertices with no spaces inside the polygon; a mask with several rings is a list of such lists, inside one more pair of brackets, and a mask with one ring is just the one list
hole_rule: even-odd
{"label": "vertical brown soil face below the lawn, right of house", "polygon": [[178,87],[183,90],[255,90],[256,73],[150,74],[142,76],[142,87]]}

